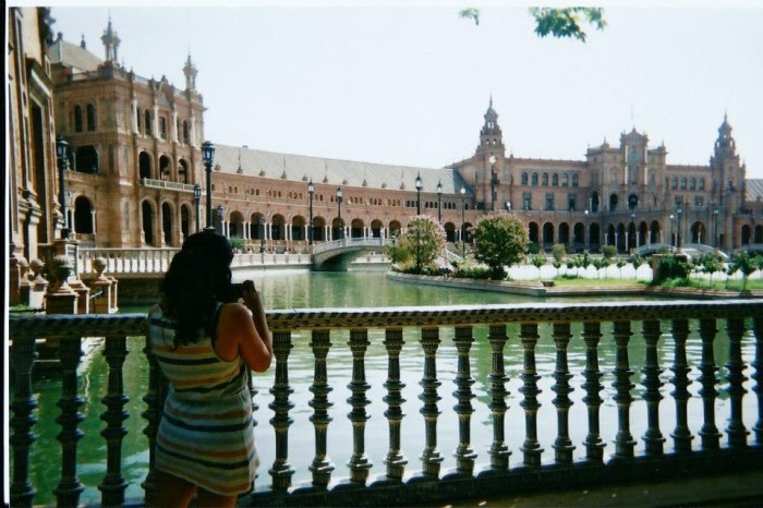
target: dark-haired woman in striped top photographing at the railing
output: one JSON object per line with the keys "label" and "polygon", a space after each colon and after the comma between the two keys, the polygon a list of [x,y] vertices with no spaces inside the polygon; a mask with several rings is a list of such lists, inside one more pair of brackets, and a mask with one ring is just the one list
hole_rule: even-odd
{"label": "dark-haired woman in striped top photographing at the railing", "polygon": [[170,384],[156,437],[155,506],[234,506],[257,465],[247,366],[264,372],[272,346],[259,295],[244,282],[243,304],[231,292],[228,240],[192,234],[148,312],[152,352]]}

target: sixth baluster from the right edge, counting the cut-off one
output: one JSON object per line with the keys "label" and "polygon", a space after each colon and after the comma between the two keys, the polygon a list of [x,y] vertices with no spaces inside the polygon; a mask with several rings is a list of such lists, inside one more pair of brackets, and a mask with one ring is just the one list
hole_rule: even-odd
{"label": "sixth baluster from the right edge, counting the cut-off one", "polygon": [[615,365],[615,388],[614,400],[617,403],[617,436],[615,436],[615,459],[633,458],[633,447],[635,442],[630,433],[630,406],[633,397],[630,390],[633,384],[630,376],[633,371],[628,363],[628,341],[630,340],[630,322],[615,322],[615,342],[617,344],[617,360]]}

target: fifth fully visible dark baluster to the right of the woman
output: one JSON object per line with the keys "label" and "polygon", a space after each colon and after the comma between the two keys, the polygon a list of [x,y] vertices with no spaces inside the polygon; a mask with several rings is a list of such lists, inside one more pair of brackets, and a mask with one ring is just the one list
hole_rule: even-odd
{"label": "fifth fully visible dark baluster to the right of the woman", "polygon": [[420,457],[424,480],[437,480],[440,462],[443,462],[443,457],[437,450],[437,418],[439,416],[437,401],[440,399],[437,395],[437,388],[441,383],[437,380],[436,354],[439,343],[439,328],[422,328],[421,346],[424,350],[424,376],[419,383],[423,389],[419,399],[424,402],[420,412],[424,416],[426,432],[424,451]]}

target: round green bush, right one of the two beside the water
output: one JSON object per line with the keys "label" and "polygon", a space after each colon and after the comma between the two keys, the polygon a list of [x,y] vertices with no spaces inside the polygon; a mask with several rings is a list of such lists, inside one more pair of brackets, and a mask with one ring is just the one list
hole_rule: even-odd
{"label": "round green bush, right one of the two beside the water", "polygon": [[504,267],[519,263],[530,240],[522,223],[508,215],[491,214],[472,228],[474,258],[491,267],[493,276],[504,278]]}

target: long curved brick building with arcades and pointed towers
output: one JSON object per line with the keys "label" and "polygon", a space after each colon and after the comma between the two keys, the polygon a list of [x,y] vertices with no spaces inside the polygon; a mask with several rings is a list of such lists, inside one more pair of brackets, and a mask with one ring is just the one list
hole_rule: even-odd
{"label": "long curved brick building with arcades and pointed towers", "polygon": [[[11,9],[9,25],[12,266],[66,230],[82,246],[141,249],[177,247],[214,226],[246,249],[303,251],[311,241],[387,238],[419,213],[436,217],[451,242],[498,213],[519,218],[541,250],[763,243],[763,180],[746,178],[726,118],[705,166],[668,164],[664,144],[650,146],[634,129],[584,160],[521,158],[506,153],[492,99],[474,154],[444,168],[218,143],[207,225],[205,108],[191,56],[179,62],[178,88],[119,63],[111,21],[102,58],[84,39],[52,36],[47,9]],[[57,140],[65,142],[58,164]]]}

